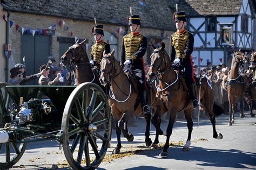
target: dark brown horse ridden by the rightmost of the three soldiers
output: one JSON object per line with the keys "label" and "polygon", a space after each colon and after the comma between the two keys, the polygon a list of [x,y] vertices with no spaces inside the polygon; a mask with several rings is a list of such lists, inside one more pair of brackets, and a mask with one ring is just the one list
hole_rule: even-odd
{"label": "dark brown horse ridden by the rightmost of the three soldiers", "polygon": [[[151,66],[147,74],[151,80],[155,80],[157,78],[159,79],[159,85],[156,84],[156,97],[161,101],[159,102],[161,105],[157,108],[154,116],[152,117],[152,124],[156,127],[157,130],[157,138],[154,140],[152,148],[157,148],[157,144],[159,143],[158,135],[164,134],[167,136],[163,151],[161,151],[159,154],[162,158],[166,158],[168,155],[167,149],[169,148],[169,140],[172,134],[173,124],[176,119],[177,111],[184,111],[187,121],[188,137],[186,144],[183,147],[183,151],[190,150],[191,133],[193,130],[193,121],[191,118],[191,110],[193,109],[193,104],[191,96],[188,95],[185,80],[176,70],[173,69],[174,66],[172,66],[169,55],[164,48],[165,44],[163,42],[158,48],[153,46],[154,51],[150,56]],[[208,86],[206,78],[202,80],[200,101],[210,116],[213,127],[213,138],[222,139],[223,135],[221,133],[217,133],[215,129],[215,115],[213,112],[213,90],[210,86]],[[171,114],[167,130],[163,132],[160,129],[159,119],[166,111],[169,111]]]}

